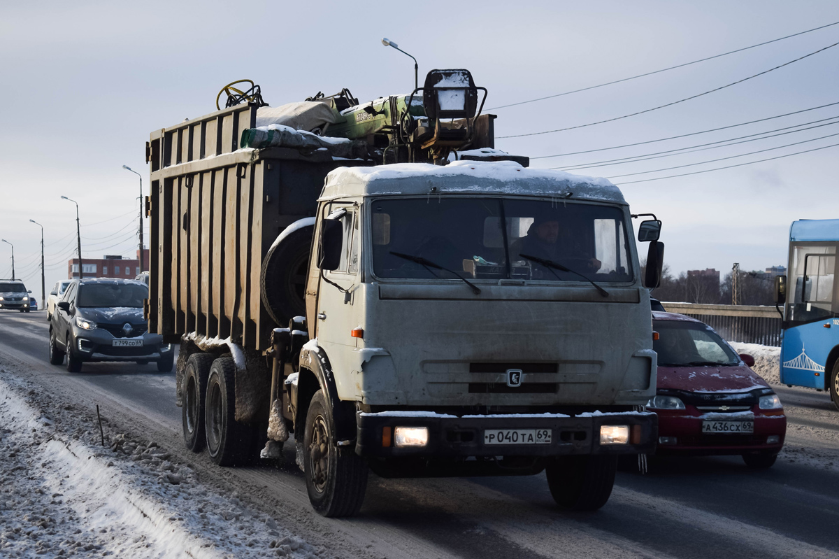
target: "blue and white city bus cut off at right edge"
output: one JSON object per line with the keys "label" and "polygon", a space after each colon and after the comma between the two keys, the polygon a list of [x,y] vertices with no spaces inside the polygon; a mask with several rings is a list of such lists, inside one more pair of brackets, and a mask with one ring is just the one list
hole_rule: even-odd
{"label": "blue and white city bus cut off at right edge", "polygon": [[789,227],[787,275],[776,280],[784,303],[782,384],[830,390],[839,409],[839,219],[805,220]]}

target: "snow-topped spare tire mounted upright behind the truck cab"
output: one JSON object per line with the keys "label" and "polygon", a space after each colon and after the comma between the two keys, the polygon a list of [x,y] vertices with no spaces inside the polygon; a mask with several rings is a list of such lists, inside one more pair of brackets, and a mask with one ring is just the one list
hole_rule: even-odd
{"label": "snow-topped spare tire mounted upright behind the truck cab", "polygon": [[263,259],[259,290],[268,315],[278,327],[286,327],[294,316],[306,314],[306,276],[314,235],[314,217],[294,222],[279,234]]}

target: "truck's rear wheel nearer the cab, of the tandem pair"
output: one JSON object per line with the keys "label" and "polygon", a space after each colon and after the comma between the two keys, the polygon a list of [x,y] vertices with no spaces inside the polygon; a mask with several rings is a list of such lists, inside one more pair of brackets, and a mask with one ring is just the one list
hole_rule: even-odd
{"label": "truck's rear wheel nearer the cab, of the tandem pair", "polygon": [[248,462],[251,431],[236,421],[236,364],[229,357],[212,362],[207,378],[204,426],[207,452],[219,466]]}

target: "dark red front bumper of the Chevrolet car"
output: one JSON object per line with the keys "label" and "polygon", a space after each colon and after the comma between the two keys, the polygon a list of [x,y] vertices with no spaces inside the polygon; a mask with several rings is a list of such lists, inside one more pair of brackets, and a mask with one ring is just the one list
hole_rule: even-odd
{"label": "dark red front bumper of the Chevrolet car", "polygon": [[[668,411],[658,410],[659,437],[675,439],[675,444],[665,444],[659,440],[655,453],[659,455],[712,456],[743,454],[743,452],[780,452],[784,447],[786,435],[785,415],[763,415],[754,411],[754,429],[752,433],[723,434],[702,433],[702,421],[705,418],[699,410]],[[722,414],[714,417],[716,421],[725,421]],[[742,418],[732,417],[732,421]],[[777,436],[778,442],[769,444],[769,436]]]}

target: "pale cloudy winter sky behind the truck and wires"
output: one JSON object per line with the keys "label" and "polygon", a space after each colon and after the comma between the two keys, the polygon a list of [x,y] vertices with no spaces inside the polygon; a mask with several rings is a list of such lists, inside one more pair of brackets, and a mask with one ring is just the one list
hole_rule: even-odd
{"label": "pale cloudy winter sky behind the truck and wires", "polygon": [[[158,128],[215,110],[221,86],[250,78],[272,106],[348,87],[360,100],[410,91],[413,62],[468,68],[498,107],[656,71],[839,21],[839,3],[710,0],[482,3],[3,3],[0,18],[0,237],[18,277],[40,293],[44,224],[47,290],[66,277],[81,209],[85,258],[133,258],[144,144]],[[643,111],[753,76],[839,42],[839,25],[654,76],[491,111],[496,135],[566,128]],[[576,130],[498,139],[538,157],[694,133],[839,102],[839,46],[673,107]],[[839,117],[839,105],[680,140],[534,159],[590,165]],[[828,121],[830,122],[830,121]],[[839,133],[839,124],[626,165],[574,170],[613,177],[689,165]],[[629,180],[736,165],[839,144],[823,138],[761,154],[612,178]],[[728,170],[621,185],[633,212],[664,222],[675,272],[786,264],[789,223],[839,217],[839,147]],[[105,221],[109,220],[109,221]],[[148,239],[148,237],[147,237]],[[0,277],[11,271],[0,243]]]}

